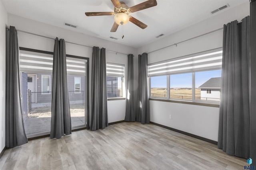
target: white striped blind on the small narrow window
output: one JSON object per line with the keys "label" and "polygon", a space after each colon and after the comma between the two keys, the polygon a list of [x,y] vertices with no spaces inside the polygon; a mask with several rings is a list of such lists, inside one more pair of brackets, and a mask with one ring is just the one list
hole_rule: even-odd
{"label": "white striped blind on the small narrow window", "polygon": [[107,76],[124,77],[124,65],[107,63],[106,72],[107,72]]}

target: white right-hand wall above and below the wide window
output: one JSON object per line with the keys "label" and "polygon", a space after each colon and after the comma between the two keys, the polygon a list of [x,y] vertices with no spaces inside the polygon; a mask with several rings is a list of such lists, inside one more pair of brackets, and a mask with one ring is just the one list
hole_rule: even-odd
{"label": "white right-hand wall above and below the wide window", "polygon": [[[222,28],[224,24],[234,20],[240,21],[248,15],[250,15],[249,1],[234,8],[230,7],[230,10],[216,14],[208,20],[196,23],[177,33],[162,37],[154,43],[145,45],[138,49],[138,54],[149,53],[156,49]],[[222,32],[223,30],[221,29],[220,31],[180,43],[177,47],[172,46],[149,53],[148,63],[222,47]],[[169,115],[172,115],[172,119],[169,119]],[[214,141],[218,141],[218,119],[219,108],[217,107],[150,101],[150,121]]]}

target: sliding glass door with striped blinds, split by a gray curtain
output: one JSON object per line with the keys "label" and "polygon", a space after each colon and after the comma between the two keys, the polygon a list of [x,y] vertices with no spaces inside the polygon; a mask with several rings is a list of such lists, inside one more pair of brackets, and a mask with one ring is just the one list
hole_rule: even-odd
{"label": "sliding glass door with striped blinds, split by a gray curtain", "polygon": [[[53,55],[20,50],[22,115],[28,138],[50,134]],[[67,57],[68,94],[72,129],[85,127],[87,60]]]}

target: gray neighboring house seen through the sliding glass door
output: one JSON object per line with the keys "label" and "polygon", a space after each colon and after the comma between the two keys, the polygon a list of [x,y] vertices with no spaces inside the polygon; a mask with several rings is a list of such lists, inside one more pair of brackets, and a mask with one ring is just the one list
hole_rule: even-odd
{"label": "gray neighboring house seen through the sliding glass door", "polygon": [[[27,76],[27,78],[26,78]],[[68,75],[68,95],[70,104],[82,104],[85,99],[85,76]],[[28,101],[32,107],[49,107],[52,102],[52,74],[22,73],[22,106],[27,106],[27,91],[30,90]],[[34,106],[33,106],[34,105]],[[25,111],[26,112],[26,111]]]}

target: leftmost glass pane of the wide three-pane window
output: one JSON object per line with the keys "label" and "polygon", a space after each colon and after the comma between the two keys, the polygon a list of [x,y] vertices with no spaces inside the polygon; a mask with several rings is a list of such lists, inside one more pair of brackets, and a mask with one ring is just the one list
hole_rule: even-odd
{"label": "leftmost glass pane of the wide three-pane window", "polygon": [[167,76],[151,77],[151,97],[167,97]]}

